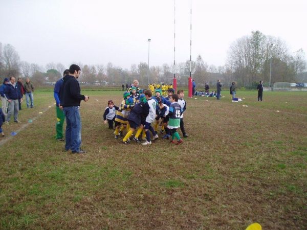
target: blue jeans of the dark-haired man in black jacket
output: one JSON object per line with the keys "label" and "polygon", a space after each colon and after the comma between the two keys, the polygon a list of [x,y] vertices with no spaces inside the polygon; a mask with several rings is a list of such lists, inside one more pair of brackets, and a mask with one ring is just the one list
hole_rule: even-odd
{"label": "blue jeans of the dark-haired man in black jacket", "polygon": [[80,151],[81,145],[81,119],[79,106],[64,107],[66,118],[65,150]]}

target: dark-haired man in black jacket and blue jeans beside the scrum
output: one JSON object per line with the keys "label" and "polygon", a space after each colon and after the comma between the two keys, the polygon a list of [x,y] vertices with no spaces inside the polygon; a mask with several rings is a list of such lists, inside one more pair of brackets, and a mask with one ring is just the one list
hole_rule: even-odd
{"label": "dark-haired man in black jacket and blue jeans beside the scrum", "polygon": [[72,153],[85,153],[80,149],[81,145],[81,119],[80,101],[89,100],[89,96],[80,94],[80,85],[77,79],[81,73],[81,68],[72,64],[69,67],[69,75],[63,77],[63,84],[60,91],[60,105],[66,118],[65,150],[72,150]]}

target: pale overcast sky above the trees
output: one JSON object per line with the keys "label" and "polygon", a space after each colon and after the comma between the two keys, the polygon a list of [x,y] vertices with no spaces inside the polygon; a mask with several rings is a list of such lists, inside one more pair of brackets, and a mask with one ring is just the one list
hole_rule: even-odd
{"label": "pale overcast sky above the trees", "polygon": [[[307,52],[306,0],[192,0],[192,59],[224,65],[230,44],[259,30]],[[173,63],[174,0],[0,0],[0,42],[20,59],[130,68]],[[190,57],[190,1],[176,0],[176,62]]]}

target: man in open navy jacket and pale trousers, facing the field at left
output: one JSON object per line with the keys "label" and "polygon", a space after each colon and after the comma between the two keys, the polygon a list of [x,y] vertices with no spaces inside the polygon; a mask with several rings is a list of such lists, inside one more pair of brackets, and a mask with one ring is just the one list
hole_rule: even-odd
{"label": "man in open navy jacket and pale trousers, facing the field at left", "polygon": [[8,106],[9,111],[6,120],[7,124],[10,122],[13,113],[14,113],[14,122],[20,123],[18,121],[18,112],[19,112],[18,99],[20,99],[20,102],[23,102],[23,98],[20,95],[20,91],[17,87],[15,77],[10,77],[10,83],[7,84],[5,95],[9,102]]}

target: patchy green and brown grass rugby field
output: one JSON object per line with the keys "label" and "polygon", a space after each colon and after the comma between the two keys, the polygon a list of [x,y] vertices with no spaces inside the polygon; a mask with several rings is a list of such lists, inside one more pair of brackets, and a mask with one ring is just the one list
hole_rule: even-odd
{"label": "patchy green and brown grass rugby field", "polygon": [[121,144],[102,114],[122,92],[82,93],[90,96],[81,103],[84,155],[54,139],[51,90],[35,92],[35,108],[23,105],[21,124],[4,125],[0,228],[307,228],[307,93],[186,97],[189,137],[180,146]]}

